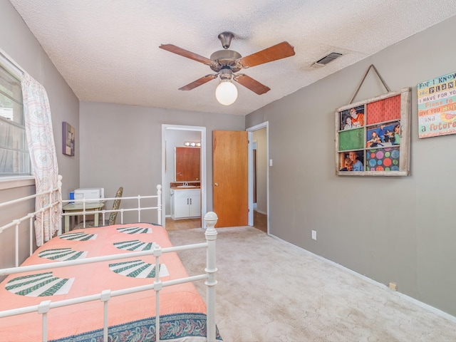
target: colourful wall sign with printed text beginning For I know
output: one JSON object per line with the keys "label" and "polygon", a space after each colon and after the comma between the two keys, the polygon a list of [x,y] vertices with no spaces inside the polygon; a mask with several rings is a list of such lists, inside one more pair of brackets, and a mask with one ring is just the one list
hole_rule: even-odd
{"label": "colourful wall sign with printed text beginning For I know", "polygon": [[456,133],[456,73],[420,82],[418,138]]}

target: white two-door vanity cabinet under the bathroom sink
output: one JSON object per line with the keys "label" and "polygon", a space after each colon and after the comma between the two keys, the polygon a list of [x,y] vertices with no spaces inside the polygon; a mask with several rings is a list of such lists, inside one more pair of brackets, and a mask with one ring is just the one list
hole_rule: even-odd
{"label": "white two-door vanity cabinet under the bathroom sink", "polygon": [[171,196],[172,219],[190,219],[201,216],[201,189],[175,189]]}

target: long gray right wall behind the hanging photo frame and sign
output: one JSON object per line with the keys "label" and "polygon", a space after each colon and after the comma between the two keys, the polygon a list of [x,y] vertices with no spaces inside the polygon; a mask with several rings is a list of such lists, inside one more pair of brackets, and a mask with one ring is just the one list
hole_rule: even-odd
{"label": "long gray right wall behind the hanging photo frame and sign", "polygon": [[[453,316],[456,135],[418,139],[416,84],[456,71],[456,47],[447,39],[455,30],[453,17],[246,117],[247,128],[269,121],[271,234],[380,283],[393,281]],[[409,177],[335,175],[334,112],[350,102],[371,64],[391,90],[413,87]],[[371,71],[355,101],[381,93]]]}

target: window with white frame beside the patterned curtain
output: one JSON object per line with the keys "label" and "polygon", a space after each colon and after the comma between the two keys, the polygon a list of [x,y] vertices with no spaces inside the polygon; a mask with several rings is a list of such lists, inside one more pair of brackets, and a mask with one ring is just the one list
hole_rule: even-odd
{"label": "window with white frame beside the patterned curtain", "polygon": [[0,55],[0,177],[30,175],[20,73]]}

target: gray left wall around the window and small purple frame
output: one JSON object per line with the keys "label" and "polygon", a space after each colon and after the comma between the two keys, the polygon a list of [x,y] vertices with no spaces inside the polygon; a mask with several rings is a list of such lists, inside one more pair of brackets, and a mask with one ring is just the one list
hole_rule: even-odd
{"label": "gray left wall around the window and small purple frame", "polygon": [[[0,49],[46,88],[52,113],[58,168],[59,173],[63,175],[63,198],[68,199],[68,191],[79,186],[78,98],[53,66],[9,1],[0,1]],[[67,121],[76,128],[76,155],[74,157],[62,154],[62,121]],[[22,182],[22,184],[15,182],[14,184],[14,187],[9,189],[6,184],[0,186],[0,202],[34,193],[34,185],[30,185],[30,182]],[[25,214],[31,212],[30,208],[33,208],[33,203],[24,204],[21,208],[23,208],[21,212]],[[13,212],[18,214],[18,209],[15,207],[14,210],[4,210],[0,214],[0,225],[6,223],[6,219],[9,219]],[[28,227],[21,228],[20,234],[19,259],[23,261],[28,255]],[[10,256],[14,255],[13,246],[14,234],[2,233],[0,235],[0,267],[12,266],[11,262],[14,262],[14,258]]]}

